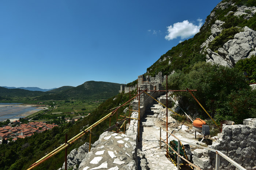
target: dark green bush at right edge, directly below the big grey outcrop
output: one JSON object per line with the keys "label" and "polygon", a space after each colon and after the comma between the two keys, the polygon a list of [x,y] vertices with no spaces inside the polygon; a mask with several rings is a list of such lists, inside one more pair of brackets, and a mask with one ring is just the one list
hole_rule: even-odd
{"label": "dark green bush at right edge, directly below the big grey outcrop", "polygon": [[256,83],[256,56],[239,60],[235,67],[240,71],[245,71],[251,83]]}

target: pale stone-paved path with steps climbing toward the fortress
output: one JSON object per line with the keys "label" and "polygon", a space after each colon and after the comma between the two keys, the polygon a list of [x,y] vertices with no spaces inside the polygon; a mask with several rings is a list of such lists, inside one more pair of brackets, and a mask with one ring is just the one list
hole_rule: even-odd
{"label": "pale stone-paved path with steps climbing toward the fortress", "polygon": [[[146,111],[144,118],[140,123],[140,141],[138,142],[138,149],[142,150],[148,162],[150,170],[177,170],[171,161],[166,158],[166,145],[162,142],[162,149],[160,149],[160,128],[166,127],[165,122],[159,122],[158,115],[163,112],[163,107],[160,104],[153,104],[153,106]],[[166,112],[165,112],[166,114]],[[168,114],[169,115],[169,114]],[[165,117],[165,116],[164,116]],[[162,118],[165,121],[165,118]],[[188,142],[196,143],[192,131],[188,127],[177,123],[175,119],[169,115],[168,130],[177,137],[186,139]],[[162,130],[162,138],[166,139],[166,132]],[[168,136],[168,141],[175,138]],[[143,169],[143,168],[142,168]],[[187,169],[182,168],[182,169]]]}

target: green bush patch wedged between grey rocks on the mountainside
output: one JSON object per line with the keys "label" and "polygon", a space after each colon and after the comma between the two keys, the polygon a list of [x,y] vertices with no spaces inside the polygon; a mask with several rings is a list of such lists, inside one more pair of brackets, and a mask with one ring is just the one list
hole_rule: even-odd
{"label": "green bush patch wedged between grey rocks on the mountainside", "polygon": [[208,47],[212,51],[216,51],[219,48],[222,48],[223,44],[225,44],[228,40],[234,39],[234,35],[240,31],[241,29],[238,27],[223,29],[221,34],[215,37],[215,39],[209,43]]}

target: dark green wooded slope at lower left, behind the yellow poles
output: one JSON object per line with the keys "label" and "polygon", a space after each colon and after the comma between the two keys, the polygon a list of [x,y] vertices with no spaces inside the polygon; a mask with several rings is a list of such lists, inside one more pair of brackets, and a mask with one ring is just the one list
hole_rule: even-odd
{"label": "dark green wooded slope at lower left, behind the yellow poles", "polygon": [[[56,149],[65,141],[65,134],[68,134],[68,139],[71,139],[75,135],[79,134],[82,130],[91,124],[97,122],[103,118],[106,114],[113,111],[112,108],[120,106],[129,100],[129,94],[118,94],[109,98],[102,103],[91,115],[87,116],[78,122],[65,123],[59,127],[54,127],[52,130],[47,130],[44,133],[34,134],[31,137],[25,139],[18,139],[16,142],[10,142],[8,145],[0,145],[0,170],[21,170],[29,168],[29,165],[38,161],[45,156],[45,153]],[[125,107],[121,107],[118,110],[118,115],[124,115],[123,110]],[[118,119],[122,117],[118,116]],[[116,114],[111,119],[111,125],[116,122]],[[109,119],[96,126],[92,131],[92,143],[98,140],[99,135],[103,133],[105,129],[109,127]],[[89,134],[84,135],[80,140],[68,147],[68,153],[82,144],[89,142]],[[64,162],[65,151],[61,151],[59,154],[48,159],[42,165],[35,169],[59,169]]]}

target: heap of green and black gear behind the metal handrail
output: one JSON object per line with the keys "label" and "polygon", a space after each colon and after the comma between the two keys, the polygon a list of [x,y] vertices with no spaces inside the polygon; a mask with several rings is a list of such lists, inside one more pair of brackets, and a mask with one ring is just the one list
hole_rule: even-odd
{"label": "heap of green and black gear behind the metal handrail", "polygon": [[[180,141],[179,141],[180,142]],[[189,145],[182,145],[180,142],[180,145],[178,145],[178,141],[172,140],[170,141],[168,147],[168,156],[171,159],[171,161],[173,162],[173,164],[177,167],[178,166],[178,159],[179,159],[179,165],[186,165],[186,166],[190,166],[191,169],[193,169],[193,167],[186,161],[184,161],[181,158],[178,158],[178,155],[176,154],[179,150],[179,155],[185,159],[187,159],[188,161],[192,162],[192,153],[190,151],[190,146]],[[174,149],[174,152],[172,149]]]}

